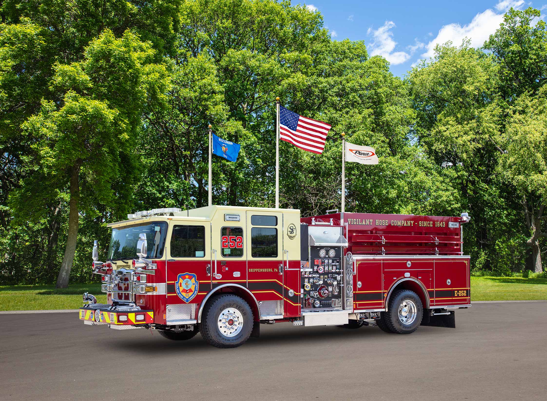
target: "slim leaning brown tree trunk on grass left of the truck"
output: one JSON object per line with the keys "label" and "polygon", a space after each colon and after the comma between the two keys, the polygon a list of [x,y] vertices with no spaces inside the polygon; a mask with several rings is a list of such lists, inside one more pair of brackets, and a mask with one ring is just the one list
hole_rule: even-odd
{"label": "slim leaning brown tree trunk on grass left of the truck", "polygon": [[68,210],[68,236],[65,246],[65,256],[61,263],[61,270],[59,276],[57,276],[57,284],[55,288],[67,288],[68,279],[70,278],[70,271],[72,269],[72,263],[74,261],[74,254],[76,253],[76,241],[78,239],[78,200],[80,197],[80,183],[79,183],[80,166],[75,165],[71,177],[70,177],[70,202]]}

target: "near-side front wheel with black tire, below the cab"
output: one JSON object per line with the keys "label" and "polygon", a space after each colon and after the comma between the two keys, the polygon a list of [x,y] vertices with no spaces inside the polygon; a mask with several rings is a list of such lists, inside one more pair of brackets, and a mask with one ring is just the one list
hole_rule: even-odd
{"label": "near-side front wheel with black tire, below the cab", "polygon": [[[242,322],[241,324],[236,324],[239,317],[236,316],[236,319],[230,317],[224,323],[228,325],[231,322],[232,326],[225,326],[223,333],[218,323],[222,320],[219,317],[222,317],[224,311],[228,311],[226,313],[230,313],[229,316],[238,314],[238,316],[241,316]],[[242,345],[249,339],[253,330],[253,320],[253,311],[245,300],[232,294],[216,295],[207,301],[207,304],[203,308],[199,329],[203,339],[212,346],[234,348]],[[236,325],[234,326],[234,324]],[[229,330],[232,328],[236,331],[239,329],[238,333],[231,335],[232,332],[229,332]]]}

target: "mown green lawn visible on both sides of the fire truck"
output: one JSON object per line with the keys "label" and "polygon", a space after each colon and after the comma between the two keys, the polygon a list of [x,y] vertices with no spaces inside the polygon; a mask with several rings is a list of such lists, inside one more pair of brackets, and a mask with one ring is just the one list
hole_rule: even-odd
{"label": "mown green lawn visible on both sides of the fire truck", "polygon": [[[101,284],[55,286],[0,286],[0,310],[78,309],[82,294],[89,292],[106,304]],[[547,299],[546,278],[471,277],[471,301]]]}

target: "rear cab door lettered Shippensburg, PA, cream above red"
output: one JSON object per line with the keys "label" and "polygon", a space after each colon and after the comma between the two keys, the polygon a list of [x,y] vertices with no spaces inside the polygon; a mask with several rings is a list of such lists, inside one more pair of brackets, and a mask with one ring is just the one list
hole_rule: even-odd
{"label": "rear cab door lettered Shippensburg, PA, cream above red", "polygon": [[248,288],[262,318],[283,316],[283,213],[247,211]]}

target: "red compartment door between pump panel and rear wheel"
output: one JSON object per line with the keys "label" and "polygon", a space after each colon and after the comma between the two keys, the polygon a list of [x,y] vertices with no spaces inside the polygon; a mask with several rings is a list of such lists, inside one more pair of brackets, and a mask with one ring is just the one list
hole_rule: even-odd
{"label": "red compartment door between pump panel and rear wheel", "polygon": [[382,260],[356,260],[353,279],[353,310],[382,309]]}

